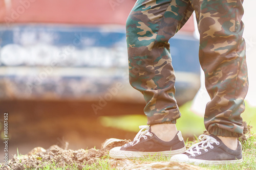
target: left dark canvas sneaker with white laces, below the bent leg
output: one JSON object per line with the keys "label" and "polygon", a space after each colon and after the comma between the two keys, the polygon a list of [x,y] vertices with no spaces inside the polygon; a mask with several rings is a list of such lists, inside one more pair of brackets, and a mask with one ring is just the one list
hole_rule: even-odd
{"label": "left dark canvas sneaker with white laces, below the bent leg", "polygon": [[149,126],[140,126],[140,129],[132,142],[126,143],[122,147],[111,149],[110,157],[125,159],[154,155],[172,156],[186,151],[180,131],[178,131],[174,139],[166,142],[151,132]]}

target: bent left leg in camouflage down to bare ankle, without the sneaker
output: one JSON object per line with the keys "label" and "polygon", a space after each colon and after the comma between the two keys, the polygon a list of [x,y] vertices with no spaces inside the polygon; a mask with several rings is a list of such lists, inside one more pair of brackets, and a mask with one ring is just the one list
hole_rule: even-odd
{"label": "bent left leg in camouflage down to bare ankle, without the sneaker", "polygon": [[163,140],[173,138],[176,127],[154,125],[175,124],[181,116],[174,98],[175,74],[168,40],[192,12],[189,0],[139,0],[126,22],[130,83],[144,96],[144,113],[152,131],[168,133],[162,135]]}

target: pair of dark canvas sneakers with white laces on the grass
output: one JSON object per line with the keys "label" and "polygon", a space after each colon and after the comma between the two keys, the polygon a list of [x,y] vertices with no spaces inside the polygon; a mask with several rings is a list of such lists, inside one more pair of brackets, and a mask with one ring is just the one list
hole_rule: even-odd
{"label": "pair of dark canvas sneakers with white laces on the grass", "polygon": [[149,126],[140,126],[140,131],[132,142],[110,150],[110,157],[117,159],[139,158],[143,156],[172,156],[170,161],[194,164],[226,164],[242,162],[242,145],[238,141],[237,150],[231,150],[214,135],[200,135],[200,142],[187,151],[180,131],[170,141],[159,139]]}

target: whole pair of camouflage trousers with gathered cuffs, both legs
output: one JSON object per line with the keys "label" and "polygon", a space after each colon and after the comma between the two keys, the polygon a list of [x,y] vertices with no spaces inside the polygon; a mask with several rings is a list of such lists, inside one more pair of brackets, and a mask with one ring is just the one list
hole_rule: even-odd
{"label": "whole pair of camouflage trousers with gathered cuffs, both legs", "polygon": [[[248,90],[242,0],[138,0],[127,18],[131,85],[142,92],[148,125],[181,116],[168,40],[196,12],[199,61],[211,101],[204,124],[210,134],[240,136]],[[186,50],[186,49],[184,49]]]}

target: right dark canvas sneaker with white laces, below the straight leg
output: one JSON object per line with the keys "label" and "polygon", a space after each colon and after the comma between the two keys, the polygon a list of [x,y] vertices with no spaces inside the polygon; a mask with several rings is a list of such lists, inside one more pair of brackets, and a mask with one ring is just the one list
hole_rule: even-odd
{"label": "right dark canvas sneaker with white laces, below the straight leg", "polygon": [[170,161],[198,164],[226,164],[240,163],[242,159],[242,145],[238,141],[237,150],[231,150],[214,135],[200,135],[202,140],[193,144],[184,154],[175,155]]}

